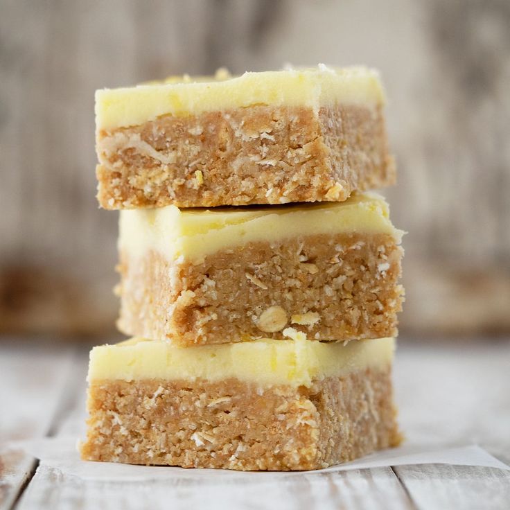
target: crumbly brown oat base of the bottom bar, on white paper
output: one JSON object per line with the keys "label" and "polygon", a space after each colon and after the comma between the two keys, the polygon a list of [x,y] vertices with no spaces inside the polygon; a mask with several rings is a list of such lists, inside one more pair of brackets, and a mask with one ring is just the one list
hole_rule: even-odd
{"label": "crumbly brown oat base of the bottom bar, on white paper", "polygon": [[391,370],[310,388],[231,379],[101,380],[89,387],[83,459],[243,471],[324,468],[397,446]]}

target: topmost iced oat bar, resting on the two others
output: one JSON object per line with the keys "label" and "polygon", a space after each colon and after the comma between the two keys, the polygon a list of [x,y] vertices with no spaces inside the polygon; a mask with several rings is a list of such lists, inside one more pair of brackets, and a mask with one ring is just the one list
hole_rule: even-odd
{"label": "topmost iced oat bar, resting on the two others", "polygon": [[96,92],[105,209],[341,202],[394,184],[376,71],[170,78]]}

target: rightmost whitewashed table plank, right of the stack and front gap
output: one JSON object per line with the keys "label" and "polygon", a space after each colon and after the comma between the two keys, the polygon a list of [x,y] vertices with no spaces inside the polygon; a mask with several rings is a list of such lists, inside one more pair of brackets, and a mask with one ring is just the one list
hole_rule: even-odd
{"label": "rightmost whitewashed table plank, right of the stack and front gap", "polygon": [[[510,464],[510,342],[405,346],[396,361],[401,423],[410,439],[478,443]],[[423,510],[510,508],[510,472],[471,466],[401,466]]]}

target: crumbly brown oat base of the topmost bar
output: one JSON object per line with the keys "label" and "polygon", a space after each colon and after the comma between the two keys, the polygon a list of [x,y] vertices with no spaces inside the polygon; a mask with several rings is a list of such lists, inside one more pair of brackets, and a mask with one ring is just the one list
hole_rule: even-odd
{"label": "crumbly brown oat base of the topmost bar", "polygon": [[254,105],[97,134],[105,209],[343,201],[394,184],[380,105]]}

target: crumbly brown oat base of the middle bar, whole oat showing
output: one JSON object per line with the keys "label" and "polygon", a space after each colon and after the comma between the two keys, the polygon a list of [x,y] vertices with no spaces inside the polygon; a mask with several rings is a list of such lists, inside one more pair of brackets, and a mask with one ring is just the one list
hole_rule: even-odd
{"label": "crumbly brown oat base of the middle bar, whole oat showing", "polygon": [[403,250],[388,234],[317,234],[248,243],[200,263],[121,252],[121,315],[130,336],[175,344],[396,335]]}

